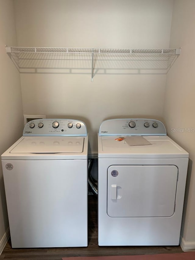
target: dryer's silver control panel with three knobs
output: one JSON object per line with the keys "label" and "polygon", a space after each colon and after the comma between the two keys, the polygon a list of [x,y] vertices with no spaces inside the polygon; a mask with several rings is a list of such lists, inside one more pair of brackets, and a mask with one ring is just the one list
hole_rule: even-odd
{"label": "dryer's silver control panel with three knobs", "polygon": [[167,135],[164,124],[154,119],[110,119],[101,123],[99,136]]}

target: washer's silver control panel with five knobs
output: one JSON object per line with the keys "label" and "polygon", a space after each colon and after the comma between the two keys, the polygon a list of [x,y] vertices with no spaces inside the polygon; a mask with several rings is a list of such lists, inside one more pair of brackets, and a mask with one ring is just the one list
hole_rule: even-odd
{"label": "washer's silver control panel with five knobs", "polygon": [[87,136],[87,126],[75,119],[35,119],[26,124],[23,136]]}

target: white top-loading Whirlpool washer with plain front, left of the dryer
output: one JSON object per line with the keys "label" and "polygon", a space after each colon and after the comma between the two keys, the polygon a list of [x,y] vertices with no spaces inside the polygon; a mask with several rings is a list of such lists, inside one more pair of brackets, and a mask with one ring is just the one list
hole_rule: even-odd
{"label": "white top-loading Whirlpool washer with plain front, left of the dryer", "polygon": [[87,246],[85,123],[36,119],[2,158],[12,248]]}

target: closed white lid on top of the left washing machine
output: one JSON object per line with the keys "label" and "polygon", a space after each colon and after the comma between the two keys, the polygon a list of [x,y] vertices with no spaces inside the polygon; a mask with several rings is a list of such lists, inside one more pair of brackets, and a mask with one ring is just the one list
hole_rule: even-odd
{"label": "closed white lid on top of the left washing machine", "polygon": [[84,137],[24,137],[10,153],[81,153]]}

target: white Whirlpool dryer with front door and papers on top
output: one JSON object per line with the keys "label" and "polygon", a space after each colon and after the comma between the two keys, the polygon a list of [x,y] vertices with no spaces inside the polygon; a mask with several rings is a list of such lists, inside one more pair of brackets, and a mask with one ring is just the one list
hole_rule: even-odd
{"label": "white Whirlpool dryer with front door and papers on top", "polygon": [[158,120],[104,121],[98,134],[99,246],[178,245],[188,157]]}

